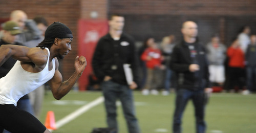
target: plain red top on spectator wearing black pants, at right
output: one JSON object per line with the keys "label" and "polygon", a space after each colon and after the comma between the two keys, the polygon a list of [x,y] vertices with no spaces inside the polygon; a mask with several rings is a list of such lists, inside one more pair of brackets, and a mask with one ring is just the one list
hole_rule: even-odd
{"label": "plain red top on spectator wearing black pants, at right", "polygon": [[240,48],[229,47],[227,50],[227,56],[229,57],[229,66],[236,68],[244,68],[245,57],[244,52]]}

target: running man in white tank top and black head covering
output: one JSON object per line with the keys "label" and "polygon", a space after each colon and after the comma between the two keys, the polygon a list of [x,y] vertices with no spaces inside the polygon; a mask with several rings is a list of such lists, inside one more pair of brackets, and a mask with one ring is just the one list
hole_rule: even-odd
{"label": "running man in white tank top and black head covering", "polygon": [[50,132],[33,115],[18,109],[16,103],[46,82],[57,100],[69,93],[87,65],[85,57],[77,56],[74,74],[62,82],[56,57],[63,58],[71,51],[72,40],[72,32],[66,25],[53,23],[38,48],[0,47],[0,66],[10,57],[17,60],[10,72],[0,79],[0,132],[3,128],[11,132]]}

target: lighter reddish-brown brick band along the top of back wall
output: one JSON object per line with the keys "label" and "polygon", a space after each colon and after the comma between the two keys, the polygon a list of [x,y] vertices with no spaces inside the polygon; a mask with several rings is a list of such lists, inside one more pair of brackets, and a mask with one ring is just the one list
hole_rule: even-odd
{"label": "lighter reddish-brown brick band along the top of back wall", "polygon": [[255,14],[254,0],[110,1],[110,12],[123,14],[244,15]]}

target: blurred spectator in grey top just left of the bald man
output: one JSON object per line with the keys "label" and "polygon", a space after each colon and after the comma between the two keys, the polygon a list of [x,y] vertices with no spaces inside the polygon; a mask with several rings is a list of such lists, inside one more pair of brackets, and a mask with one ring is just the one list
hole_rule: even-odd
{"label": "blurred spectator in grey top just left of the bald man", "polygon": [[165,73],[164,73],[164,91],[162,92],[162,95],[166,96],[169,95],[170,93],[170,87],[174,83],[172,82],[172,77],[174,77],[172,70],[170,70],[169,63],[170,63],[170,58],[171,54],[173,52],[173,48],[175,46],[175,36],[170,35],[170,36],[165,36],[162,39],[161,42],[161,51],[162,55],[164,57],[163,64],[165,66]]}

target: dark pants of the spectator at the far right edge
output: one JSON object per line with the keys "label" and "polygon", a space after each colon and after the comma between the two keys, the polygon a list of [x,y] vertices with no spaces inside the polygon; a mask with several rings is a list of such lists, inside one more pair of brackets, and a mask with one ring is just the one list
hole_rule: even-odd
{"label": "dark pants of the spectator at the far right edge", "polygon": [[253,66],[247,66],[246,67],[246,85],[247,90],[252,91],[254,86],[256,78],[256,67]]}

